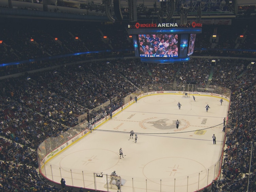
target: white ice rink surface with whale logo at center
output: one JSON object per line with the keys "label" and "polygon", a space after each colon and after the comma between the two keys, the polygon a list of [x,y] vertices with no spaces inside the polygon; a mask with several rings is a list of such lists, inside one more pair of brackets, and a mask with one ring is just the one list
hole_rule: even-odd
{"label": "white ice rink surface with whale logo at center", "polygon": [[[229,106],[227,100],[222,105],[219,100],[195,95],[194,101],[192,95],[182,94],[142,97],[50,159],[42,172],[58,183],[65,178],[66,185],[102,191],[117,191],[105,185],[105,174],[113,171],[121,176],[122,192],[197,191],[219,171],[223,118]],[[129,140],[131,130],[138,135],[137,143]],[[122,159],[120,147],[126,155]]]}

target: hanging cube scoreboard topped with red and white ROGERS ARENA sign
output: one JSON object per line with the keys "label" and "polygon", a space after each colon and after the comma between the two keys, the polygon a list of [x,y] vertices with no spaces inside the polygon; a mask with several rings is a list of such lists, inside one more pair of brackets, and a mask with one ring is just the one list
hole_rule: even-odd
{"label": "hanging cube scoreboard topped with red and white ROGERS ARENA sign", "polygon": [[136,23],[128,25],[133,37],[134,52],[146,63],[177,63],[189,61],[193,54],[196,34],[202,24]]}

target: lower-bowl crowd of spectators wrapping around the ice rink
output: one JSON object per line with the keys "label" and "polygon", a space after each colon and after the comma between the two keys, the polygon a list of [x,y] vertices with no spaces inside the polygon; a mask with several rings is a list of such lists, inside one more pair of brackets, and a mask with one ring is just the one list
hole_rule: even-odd
{"label": "lower-bowl crowd of spectators wrapping around the ice rink", "polygon": [[[172,83],[177,68],[181,68],[182,71],[178,77],[189,74],[190,77],[192,76],[191,80],[199,84],[206,83],[209,60],[191,58],[189,64],[146,65],[139,62],[138,59],[120,59],[109,63],[102,61],[101,63],[88,62],[82,65],[62,65],[57,69],[26,74],[33,81],[27,80],[28,76],[1,80],[1,168],[2,171],[5,171],[6,177],[11,179],[8,180],[3,175],[0,180],[0,189],[19,191],[23,187],[25,191],[44,191],[48,188],[51,188],[52,191],[58,190],[54,186],[46,184],[38,175],[30,176],[37,173],[38,164],[35,150],[43,140],[61,135],[78,123],[77,115],[82,115],[99,106],[109,98],[121,98],[128,95],[137,89],[136,86]],[[223,66],[224,64],[225,66]],[[224,160],[222,173],[225,177],[216,184],[216,187],[220,188],[224,183],[233,191],[236,191],[234,189],[240,186],[240,183],[241,185],[246,183],[244,174],[248,173],[250,145],[255,135],[253,112],[255,109],[244,106],[245,103],[250,103],[250,106],[254,105],[252,97],[256,90],[255,67],[245,70],[245,65],[245,60],[219,59],[214,73],[214,77],[218,80],[225,79],[225,77],[230,79],[229,88],[233,91],[232,100],[235,100],[230,110],[233,112],[233,126],[227,135],[227,149],[225,150],[227,158]],[[233,67],[237,70],[230,70]],[[244,76],[238,78],[239,73],[242,74],[242,72],[245,72]],[[197,75],[194,76],[193,73]],[[199,78],[200,76],[202,78]],[[213,82],[216,85],[218,83],[225,85],[227,82],[224,84],[217,80]],[[113,110],[120,105],[119,102],[113,103]],[[109,114],[109,106],[104,110],[106,112],[100,114],[93,111],[90,114],[92,120],[90,123]],[[72,111],[73,114],[69,114],[69,111]],[[244,122],[244,118],[247,119],[246,122]],[[239,123],[238,127],[234,126],[235,120]],[[239,154],[237,154],[238,152]],[[13,167],[17,169],[16,174],[8,172],[8,169]],[[21,175],[19,170],[22,170],[23,167],[26,170],[24,174],[28,175]],[[237,168],[237,171],[233,173],[233,170],[236,170],[234,167]],[[25,185],[21,185],[18,181],[20,177],[24,178]]]}

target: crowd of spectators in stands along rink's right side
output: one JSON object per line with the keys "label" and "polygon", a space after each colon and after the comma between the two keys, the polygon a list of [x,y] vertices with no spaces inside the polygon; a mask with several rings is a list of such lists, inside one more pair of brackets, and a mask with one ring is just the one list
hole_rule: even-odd
{"label": "crowd of spectators in stands along rink's right side", "polygon": [[226,135],[223,178],[214,181],[212,186],[214,191],[243,192],[247,191],[248,186],[249,191],[255,191],[255,66],[246,70],[242,78],[230,78],[236,81],[229,84],[233,91],[229,111],[231,129]]}

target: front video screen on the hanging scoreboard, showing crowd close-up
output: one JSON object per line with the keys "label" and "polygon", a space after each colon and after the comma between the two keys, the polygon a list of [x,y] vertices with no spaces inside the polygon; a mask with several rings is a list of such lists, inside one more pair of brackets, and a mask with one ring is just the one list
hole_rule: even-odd
{"label": "front video screen on the hanging scoreboard, showing crowd close-up", "polygon": [[138,36],[140,57],[178,57],[178,34]]}

